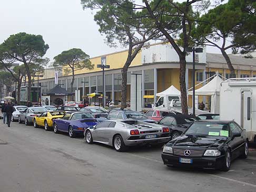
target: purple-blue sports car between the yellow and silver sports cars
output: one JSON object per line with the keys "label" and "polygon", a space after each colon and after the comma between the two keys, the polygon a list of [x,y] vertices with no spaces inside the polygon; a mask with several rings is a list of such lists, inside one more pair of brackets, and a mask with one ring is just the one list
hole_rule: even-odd
{"label": "purple-blue sports car between the yellow and silver sports cars", "polygon": [[83,134],[87,127],[98,124],[88,112],[67,112],[62,119],[53,119],[54,133],[67,132],[70,137]]}

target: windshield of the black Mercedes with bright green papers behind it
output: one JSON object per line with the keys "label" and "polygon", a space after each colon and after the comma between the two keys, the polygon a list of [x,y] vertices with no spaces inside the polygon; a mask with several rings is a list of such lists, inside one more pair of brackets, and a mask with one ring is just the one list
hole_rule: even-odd
{"label": "windshield of the black Mercedes with bright green papers behind it", "polygon": [[223,123],[195,122],[184,134],[229,137],[229,128],[228,124]]}

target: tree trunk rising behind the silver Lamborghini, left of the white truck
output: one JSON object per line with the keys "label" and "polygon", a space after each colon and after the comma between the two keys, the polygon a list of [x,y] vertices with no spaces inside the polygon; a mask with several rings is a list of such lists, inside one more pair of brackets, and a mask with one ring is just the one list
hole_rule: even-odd
{"label": "tree trunk rising behind the silver Lamborghini, left of the white truck", "polygon": [[121,108],[124,109],[127,107],[126,105],[126,94],[127,94],[127,70],[130,65],[125,63],[122,68],[122,85],[121,85]]}

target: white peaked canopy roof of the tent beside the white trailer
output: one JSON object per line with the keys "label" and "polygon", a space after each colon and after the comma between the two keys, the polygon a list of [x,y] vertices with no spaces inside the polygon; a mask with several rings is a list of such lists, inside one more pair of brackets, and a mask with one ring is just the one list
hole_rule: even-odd
{"label": "white peaked canopy roof of the tent beside the white trailer", "polygon": [[[220,84],[223,82],[219,74],[216,74],[215,77],[207,84],[202,86],[199,89],[195,90],[195,95],[215,95],[220,93]],[[193,88],[190,88],[193,89]],[[188,92],[189,95],[193,95],[193,90]]]}

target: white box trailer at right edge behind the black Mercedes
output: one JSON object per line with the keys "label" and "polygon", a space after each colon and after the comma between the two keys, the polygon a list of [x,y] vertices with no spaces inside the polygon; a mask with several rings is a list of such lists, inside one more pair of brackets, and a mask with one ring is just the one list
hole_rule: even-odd
{"label": "white box trailer at right edge behind the black Mercedes", "polygon": [[232,78],[220,86],[220,119],[234,120],[256,142],[256,78]]}

